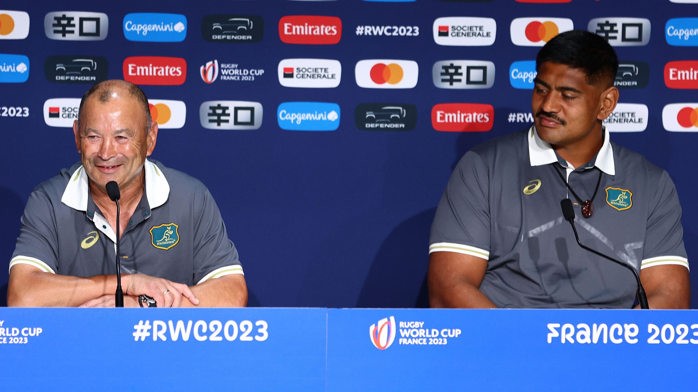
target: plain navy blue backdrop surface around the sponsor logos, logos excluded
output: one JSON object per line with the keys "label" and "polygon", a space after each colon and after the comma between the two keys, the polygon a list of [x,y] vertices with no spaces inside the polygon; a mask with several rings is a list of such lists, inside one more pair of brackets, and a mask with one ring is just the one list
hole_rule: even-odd
{"label": "plain navy blue backdrop surface around the sponsor logos, logos excluded", "polygon": [[[20,216],[31,190],[59,169],[79,160],[72,131],[47,126],[44,103],[50,98],[80,98],[89,84],[50,82],[44,75],[47,58],[103,56],[109,63],[108,77],[122,79],[122,65],[127,57],[172,56],[186,60],[186,82],[142,88],[151,99],[183,101],[186,123],[179,129],[161,130],[153,158],[197,177],[209,187],[230,238],[239,250],[250,306],[427,306],[429,227],[454,165],[475,144],[528,127],[523,120],[510,122],[512,113],[530,113],[530,90],[514,89],[510,66],[514,61],[535,59],[539,48],[512,43],[510,25],[517,17],[537,17],[541,21],[551,17],[569,18],[577,29],[586,29],[597,17],[648,18],[652,28],[647,45],[616,47],[621,63],[648,63],[647,86],[621,90],[621,103],[648,107],[646,130],[613,133],[611,138],[667,169],[683,205],[689,259],[697,253],[698,224],[692,219],[697,214],[697,204],[692,202],[697,189],[690,174],[695,163],[697,135],[665,130],[662,109],[670,103],[698,100],[695,89],[669,89],[664,83],[664,66],[669,61],[698,60],[695,47],[667,43],[665,24],[671,18],[698,15],[698,4],[669,0],[572,0],[554,4],[514,0],[383,3],[124,0],[88,4],[60,0],[4,1],[0,8],[24,11],[31,21],[27,38],[0,39],[1,54],[22,54],[30,62],[24,72],[7,71],[17,77],[29,73],[27,82],[0,83],[0,107],[29,108],[26,117],[1,116],[0,108],[0,165],[5,167],[0,174],[3,210],[0,259],[9,261],[11,257]],[[107,37],[104,40],[47,38],[45,15],[61,10],[107,14]],[[124,16],[129,13],[186,15],[183,31],[186,38],[181,42],[127,40]],[[262,17],[262,40],[258,43],[205,40],[201,27],[204,17],[223,14]],[[284,43],[279,36],[279,20],[287,15],[339,17],[341,39],[330,45]],[[440,17],[493,18],[496,40],[489,46],[438,45],[433,24]],[[698,27],[695,22],[686,23],[694,29]],[[356,33],[357,26],[384,25],[419,27],[419,35]],[[94,26],[86,27],[86,31],[90,28]],[[181,26],[177,29],[181,30]],[[696,45],[693,40],[686,42]],[[219,75],[219,80],[208,84],[199,75],[200,66],[214,59],[219,64],[239,63],[241,68],[263,69],[265,73],[253,81],[222,80]],[[327,89],[282,86],[277,67],[283,59],[338,60],[342,66],[341,82]],[[355,64],[365,59],[416,61],[419,66],[416,86],[413,89],[359,87]],[[444,60],[492,61],[496,67],[492,88],[437,88],[432,82],[432,66]],[[210,100],[260,103],[264,109],[262,126],[256,130],[203,128],[199,107]],[[339,128],[329,132],[281,129],[276,120],[277,107],[293,101],[336,103],[341,108]],[[362,103],[415,105],[416,127],[405,131],[359,130],[354,112]],[[492,105],[493,128],[475,133],[439,132],[432,126],[431,110],[440,103]],[[698,130],[695,126],[692,129]],[[7,274],[6,269],[0,270],[0,305],[5,303]],[[698,287],[695,285],[698,278],[692,281]],[[698,301],[693,303],[695,307]]]}

